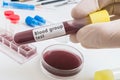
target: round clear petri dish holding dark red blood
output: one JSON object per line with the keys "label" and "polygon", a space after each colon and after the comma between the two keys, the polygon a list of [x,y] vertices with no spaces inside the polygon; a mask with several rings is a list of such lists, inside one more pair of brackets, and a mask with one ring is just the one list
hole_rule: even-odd
{"label": "round clear petri dish holding dark red blood", "polygon": [[82,53],[67,44],[53,44],[46,47],[40,59],[42,72],[54,79],[76,76],[83,68]]}

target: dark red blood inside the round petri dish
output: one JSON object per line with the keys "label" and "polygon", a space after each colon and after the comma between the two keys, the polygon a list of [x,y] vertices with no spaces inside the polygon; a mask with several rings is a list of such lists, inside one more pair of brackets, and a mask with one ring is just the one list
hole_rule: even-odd
{"label": "dark red blood inside the round petri dish", "polygon": [[[78,55],[63,50],[47,51],[43,55],[43,58],[45,62],[51,66],[50,67],[43,62],[43,67],[50,73],[58,76],[75,75],[80,71],[80,66],[82,64],[82,59]],[[65,71],[63,72],[62,70]]]}

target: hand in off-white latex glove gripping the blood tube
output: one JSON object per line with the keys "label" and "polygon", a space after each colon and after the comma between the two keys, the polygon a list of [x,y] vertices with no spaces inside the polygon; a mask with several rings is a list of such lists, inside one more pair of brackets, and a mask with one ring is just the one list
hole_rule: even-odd
{"label": "hand in off-white latex glove gripping the blood tube", "polygon": [[120,47],[120,0],[82,0],[73,8],[72,17],[75,20],[81,19],[91,12],[102,9],[114,14],[115,19],[84,26],[76,34],[70,35],[72,42],[79,42],[86,48]]}

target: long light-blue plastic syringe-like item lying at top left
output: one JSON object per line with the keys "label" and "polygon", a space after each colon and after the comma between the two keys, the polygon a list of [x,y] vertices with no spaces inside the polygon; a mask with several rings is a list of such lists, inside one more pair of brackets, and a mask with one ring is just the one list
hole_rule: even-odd
{"label": "long light-blue plastic syringe-like item lying at top left", "polygon": [[15,9],[34,10],[35,6],[30,4],[23,4],[18,2],[5,2],[3,1],[3,7],[10,7]]}

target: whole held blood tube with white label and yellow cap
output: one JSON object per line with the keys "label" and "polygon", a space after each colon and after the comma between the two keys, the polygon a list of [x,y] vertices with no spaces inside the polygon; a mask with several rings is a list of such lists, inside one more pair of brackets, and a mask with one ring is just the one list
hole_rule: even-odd
{"label": "whole held blood tube with white label and yellow cap", "polygon": [[80,28],[90,23],[108,21],[110,21],[108,12],[106,10],[102,10],[92,13],[89,15],[89,17],[80,20],[65,21],[16,33],[14,35],[14,41],[18,44],[26,44],[36,41],[52,39],[67,34],[76,33]]}

